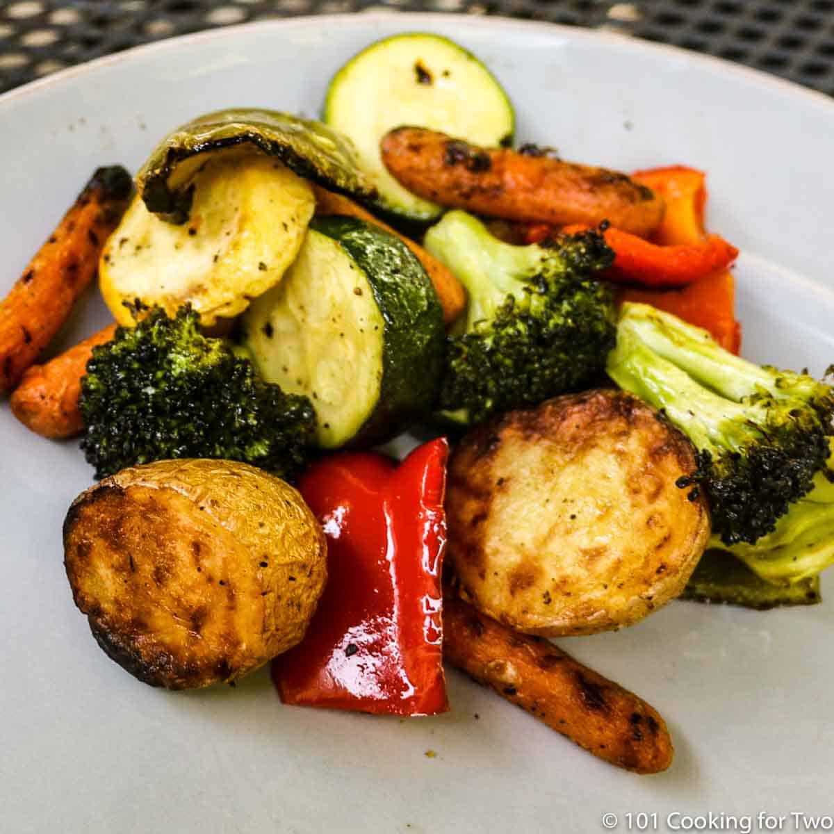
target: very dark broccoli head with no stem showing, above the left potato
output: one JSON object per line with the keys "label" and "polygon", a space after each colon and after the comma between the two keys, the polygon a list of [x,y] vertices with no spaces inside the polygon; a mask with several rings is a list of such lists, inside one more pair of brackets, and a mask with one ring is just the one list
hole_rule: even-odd
{"label": "very dark broccoli head with no stem showing, above the left potato", "polygon": [[170,458],[242,460],[284,479],[304,465],[316,427],[309,399],[265,383],[198,325],[188,306],[173,319],[154,308],[93,349],[78,406],[98,478]]}

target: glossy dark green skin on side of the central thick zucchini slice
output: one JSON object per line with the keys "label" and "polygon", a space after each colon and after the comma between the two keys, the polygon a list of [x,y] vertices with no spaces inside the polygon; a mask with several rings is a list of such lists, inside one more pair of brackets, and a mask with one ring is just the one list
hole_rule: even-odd
{"label": "glossy dark green skin on side of the central thick zucchini slice", "polygon": [[420,261],[393,234],[338,215],[314,218],[310,228],[349,254],[367,276],[382,314],[379,399],[346,446],[384,443],[435,406],[445,348],[443,308]]}

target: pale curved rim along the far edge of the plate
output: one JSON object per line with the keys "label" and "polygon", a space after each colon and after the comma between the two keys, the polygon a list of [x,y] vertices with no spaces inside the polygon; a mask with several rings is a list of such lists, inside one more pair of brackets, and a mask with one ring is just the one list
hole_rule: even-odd
{"label": "pale curved rim along the far edge of the plate", "polygon": [[464,25],[467,28],[476,29],[501,29],[515,28],[521,32],[529,31],[536,33],[550,33],[554,36],[562,36],[570,40],[585,43],[608,43],[611,46],[631,49],[638,53],[653,53],[662,58],[685,59],[687,62],[713,71],[722,71],[735,76],[740,81],[754,84],[755,86],[770,90],[772,93],[781,93],[790,97],[801,97],[816,108],[821,108],[831,115],[834,115],[834,98],[822,93],[819,90],[805,87],[795,81],[780,78],[777,75],[768,73],[765,70],[748,67],[746,64],[736,63],[726,58],[718,58],[706,53],[698,53],[691,49],[673,46],[668,43],[657,43],[647,38],[640,38],[636,35],[619,33],[607,28],[589,28],[584,26],[569,26],[562,23],[550,23],[543,20],[524,20],[510,18],[505,15],[479,16],[475,14],[447,13],[447,12],[398,12],[391,10],[375,10],[373,12],[348,12],[339,14],[312,14],[299,15],[291,18],[264,18],[249,21],[247,23],[235,23],[227,26],[201,29],[198,32],[176,35],[173,38],[163,38],[151,43],[141,43],[118,53],[103,55],[99,58],[92,58],[73,67],[68,67],[58,72],[50,73],[43,78],[36,78],[33,81],[22,84],[19,87],[0,93],[0,110],[9,104],[17,102],[21,98],[27,98],[35,93],[53,87],[60,86],[73,78],[88,73],[96,73],[102,68],[115,66],[118,63],[129,62],[138,55],[146,53],[165,53],[168,50],[176,50],[183,44],[211,43],[234,39],[240,33],[249,32],[254,29],[277,29],[286,30],[293,28],[305,28],[311,24],[324,25],[353,25],[354,23],[373,24],[379,21],[389,23],[392,20],[400,20],[404,23],[404,29],[417,31],[409,24],[420,22],[427,25],[445,25],[451,22],[453,25]]}

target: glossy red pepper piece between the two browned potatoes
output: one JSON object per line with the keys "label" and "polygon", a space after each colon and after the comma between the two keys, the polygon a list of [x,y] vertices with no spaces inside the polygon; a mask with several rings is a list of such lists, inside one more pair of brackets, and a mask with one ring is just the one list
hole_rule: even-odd
{"label": "glossy red pepper piece between the two browned potatoes", "polygon": [[440,585],[444,438],[400,465],[334,455],[299,489],[324,526],[327,587],[304,640],[273,661],[285,704],[412,716],[449,709]]}

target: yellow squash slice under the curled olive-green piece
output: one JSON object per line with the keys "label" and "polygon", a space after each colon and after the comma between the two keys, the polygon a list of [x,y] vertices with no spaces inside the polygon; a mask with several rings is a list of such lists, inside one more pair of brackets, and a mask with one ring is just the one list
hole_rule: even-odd
{"label": "yellow squash slice under the curled olive-green piece", "polygon": [[242,313],[292,264],[314,209],[310,184],[274,158],[214,156],[193,179],[187,225],[133,201],[98,265],[104,301],[125,325],[135,299],[171,316],[189,303],[207,325]]}

